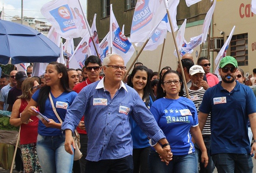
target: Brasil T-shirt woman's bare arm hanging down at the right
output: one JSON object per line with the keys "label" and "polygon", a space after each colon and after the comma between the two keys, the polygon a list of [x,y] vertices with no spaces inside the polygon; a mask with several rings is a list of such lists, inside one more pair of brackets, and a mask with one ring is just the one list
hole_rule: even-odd
{"label": "Brasil T-shirt woman's bare arm hanging down at the right", "polygon": [[201,162],[204,163],[204,167],[206,167],[207,164],[208,164],[208,155],[207,155],[207,150],[206,150],[206,147],[204,145],[202,133],[201,133],[201,130],[200,130],[199,126],[191,127],[190,128],[190,133],[191,133],[193,139],[195,140],[196,144],[198,145],[199,149],[202,152]]}

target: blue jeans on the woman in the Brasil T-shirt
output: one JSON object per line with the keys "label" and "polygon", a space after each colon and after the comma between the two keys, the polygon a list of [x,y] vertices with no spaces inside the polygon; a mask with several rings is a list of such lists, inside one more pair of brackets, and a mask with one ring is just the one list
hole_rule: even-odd
{"label": "blue jeans on the woman in the Brasil T-shirt", "polygon": [[173,155],[172,161],[166,166],[161,162],[159,154],[154,150],[149,153],[149,168],[151,173],[195,173],[198,169],[196,155]]}

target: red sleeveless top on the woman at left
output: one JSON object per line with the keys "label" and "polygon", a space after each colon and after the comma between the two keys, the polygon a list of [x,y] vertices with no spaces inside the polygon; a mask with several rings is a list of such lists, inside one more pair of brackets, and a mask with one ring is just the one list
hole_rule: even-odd
{"label": "red sleeveless top on the woman at left", "polygon": [[[23,112],[27,105],[27,101],[25,99],[21,99],[19,113]],[[39,119],[36,116],[31,116],[30,119],[33,120],[33,122],[20,125],[20,145],[37,142],[37,127]]]}

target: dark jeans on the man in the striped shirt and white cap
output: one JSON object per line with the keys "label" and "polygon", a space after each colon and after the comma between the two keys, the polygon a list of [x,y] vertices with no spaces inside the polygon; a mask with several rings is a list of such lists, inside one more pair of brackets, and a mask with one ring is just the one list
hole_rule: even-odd
{"label": "dark jeans on the man in the striped shirt and white cap", "polygon": [[200,163],[200,173],[212,173],[214,171],[215,165],[210,155],[211,135],[203,135],[203,140],[204,140],[204,145],[206,146],[206,149],[207,149],[208,165],[206,166],[206,168],[204,168],[204,163],[201,162],[202,152],[199,149],[197,144],[195,144],[196,160],[199,161]]}

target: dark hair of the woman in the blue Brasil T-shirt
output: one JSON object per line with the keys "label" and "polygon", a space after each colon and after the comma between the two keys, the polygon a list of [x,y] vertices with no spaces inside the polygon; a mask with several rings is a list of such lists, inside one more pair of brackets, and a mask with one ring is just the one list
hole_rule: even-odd
{"label": "dark hair of the woman in the blue Brasil T-shirt", "polygon": [[180,79],[180,82],[181,82],[181,86],[180,86],[180,92],[179,92],[179,96],[183,97],[183,94],[184,94],[184,91],[183,91],[183,88],[184,88],[184,85],[183,85],[183,80],[182,80],[182,77],[180,76],[180,74],[178,74],[177,72],[175,72],[174,70],[168,70],[166,71],[163,76],[161,77],[161,80],[159,80],[158,82],[158,85],[157,85],[157,99],[161,99],[163,97],[166,96],[166,92],[163,92],[163,88],[161,86],[161,84],[163,84],[163,82],[165,81],[165,76],[169,73],[175,73],[177,74],[177,76],[179,77]]}

